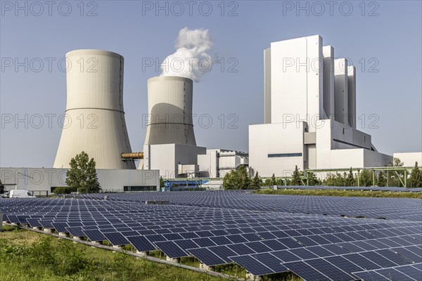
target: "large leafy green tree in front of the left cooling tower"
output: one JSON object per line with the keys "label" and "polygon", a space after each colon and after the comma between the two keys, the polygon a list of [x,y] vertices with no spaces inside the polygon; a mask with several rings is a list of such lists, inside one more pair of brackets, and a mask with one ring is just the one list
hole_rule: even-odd
{"label": "large leafy green tree in front of the left cooling tower", "polygon": [[101,186],[98,183],[95,166],[94,158],[89,159],[87,153],[82,151],[70,160],[70,169],[66,173],[66,185],[81,193],[100,192]]}

